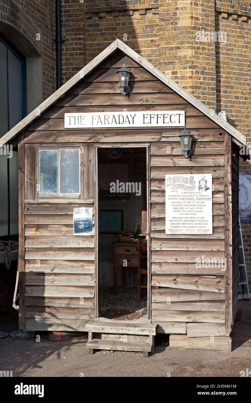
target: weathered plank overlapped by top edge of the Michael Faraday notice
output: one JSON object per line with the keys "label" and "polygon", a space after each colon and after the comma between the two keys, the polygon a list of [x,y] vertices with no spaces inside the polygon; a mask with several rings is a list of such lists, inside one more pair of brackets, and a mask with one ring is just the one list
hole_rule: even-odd
{"label": "weathered plank overlapped by top edge of the Michael Faraday notice", "polygon": [[[206,174],[208,173],[207,166],[152,166],[151,179],[165,179],[166,175],[170,174]],[[223,166],[210,167],[210,173],[214,178],[224,178]]]}

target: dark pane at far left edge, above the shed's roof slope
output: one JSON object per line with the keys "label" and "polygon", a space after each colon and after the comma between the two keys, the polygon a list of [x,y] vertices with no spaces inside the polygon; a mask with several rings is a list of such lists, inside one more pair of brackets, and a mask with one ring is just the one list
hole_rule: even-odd
{"label": "dark pane at far left edge, above the shed's roof slope", "polygon": [[0,42],[0,137],[8,131],[6,46]]}

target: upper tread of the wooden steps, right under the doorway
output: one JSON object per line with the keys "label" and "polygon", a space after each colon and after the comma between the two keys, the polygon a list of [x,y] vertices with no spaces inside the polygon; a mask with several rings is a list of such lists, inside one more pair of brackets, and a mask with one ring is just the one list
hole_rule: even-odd
{"label": "upper tread of the wooden steps, right under the doorway", "polygon": [[152,336],[156,334],[156,324],[125,322],[120,323],[120,320],[110,322],[93,320],[87,323],[86,330],[93,333],[146,334]]}

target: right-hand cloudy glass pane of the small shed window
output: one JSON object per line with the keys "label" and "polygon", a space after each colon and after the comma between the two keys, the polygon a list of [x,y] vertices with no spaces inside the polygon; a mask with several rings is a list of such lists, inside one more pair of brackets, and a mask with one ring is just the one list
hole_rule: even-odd
{"label": "right-hand cloudy glass pane of the small shed window", "polygon": [[60,151],[60,193],[79,193],[79,150]]}

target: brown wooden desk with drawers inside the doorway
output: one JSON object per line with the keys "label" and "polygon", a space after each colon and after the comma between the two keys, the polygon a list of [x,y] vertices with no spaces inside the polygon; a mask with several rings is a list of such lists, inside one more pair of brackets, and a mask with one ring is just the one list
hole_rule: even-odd
{"label": "brown wooden desk with drawers inside the doorway", "polygon": [[[147,240],[144,247],[147,250]],[[127,266],[123,266],[124,260]],[[117,268],[121,268],[121,285],[125,286],[125,269],[138,268],[138,241],[116,241],[113,243],[113,289],[117,293]]]}

